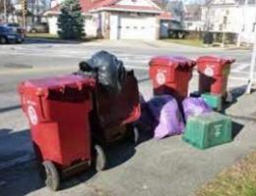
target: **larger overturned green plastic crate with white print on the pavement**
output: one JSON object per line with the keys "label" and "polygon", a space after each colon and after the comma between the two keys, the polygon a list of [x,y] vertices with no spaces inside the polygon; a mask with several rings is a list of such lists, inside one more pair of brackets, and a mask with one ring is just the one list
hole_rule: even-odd
{"label": "larger overturned green plastic crate with white print on the pavement", "polygon": [[230,118],[211,112],[190,117],[182,139],[197,148],[205,149],[231,141],[231,135]]}

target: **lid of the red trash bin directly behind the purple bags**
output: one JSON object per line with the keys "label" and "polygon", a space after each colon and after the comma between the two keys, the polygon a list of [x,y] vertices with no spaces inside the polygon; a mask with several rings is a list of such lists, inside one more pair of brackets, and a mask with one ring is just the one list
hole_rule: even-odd
{"label": "lid of the red trash bin directly behind the purple bags", "polygon": [[150,61],[150,66],[170,66],[176,68],[193,68],[196,62],[182,56],[158,56]]}

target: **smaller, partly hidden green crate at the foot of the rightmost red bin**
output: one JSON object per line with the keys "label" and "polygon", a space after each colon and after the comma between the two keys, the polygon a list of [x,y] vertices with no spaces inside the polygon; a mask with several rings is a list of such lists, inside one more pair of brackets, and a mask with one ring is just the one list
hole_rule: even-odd
{"label": "smaller, partly hidden green crate at the foot of the rightmost red bin", "polygon": [[222,95],[214,95],[210,93],[204,93],[201,97],[205,102],[214,110],[221,111],[223,108],[223,97]]}

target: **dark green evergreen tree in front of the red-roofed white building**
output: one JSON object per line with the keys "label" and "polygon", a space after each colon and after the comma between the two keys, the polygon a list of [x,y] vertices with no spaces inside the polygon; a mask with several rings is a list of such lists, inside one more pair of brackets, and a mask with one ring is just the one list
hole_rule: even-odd
{"label": "dark green evergreen tree in front of the red-roofed white building", "polygon": [[79,0],[65,0],[58,18],[58,34],[63,39],[81,39],[85,36],[85,17]]}

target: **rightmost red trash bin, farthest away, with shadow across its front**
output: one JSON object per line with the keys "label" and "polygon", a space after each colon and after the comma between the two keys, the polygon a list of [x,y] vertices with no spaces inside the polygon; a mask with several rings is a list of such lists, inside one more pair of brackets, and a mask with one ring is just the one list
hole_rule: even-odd
{"label": "rightmost red trash bin, farthest away, with shadow across its front", "polygon": [[203,56],[197,60],[200,93],[226,95],[227,78],[234,59]]}

